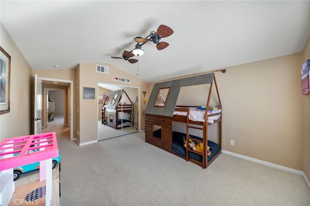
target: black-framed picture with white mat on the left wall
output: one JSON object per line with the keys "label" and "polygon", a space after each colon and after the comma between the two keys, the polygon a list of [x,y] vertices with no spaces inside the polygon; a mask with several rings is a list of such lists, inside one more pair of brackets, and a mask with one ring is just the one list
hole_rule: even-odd
{"label": "black-framed picture with white mat on the left wall", "polygon": [[10,112],[11,56],[0,46],[0,115]]}

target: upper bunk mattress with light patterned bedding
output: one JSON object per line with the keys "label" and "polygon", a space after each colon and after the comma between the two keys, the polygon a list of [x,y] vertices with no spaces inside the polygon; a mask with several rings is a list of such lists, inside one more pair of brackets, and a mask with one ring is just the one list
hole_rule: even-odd
{"label": "upper bunk mattress with light patterned bedding", "polygon": [[[189,108],[188,119],[190,119],[192,121],[204,122],[205,110],[197,109],[196,107],[188,107],[188,108]],[[220,113],[221,111],[222,111],[221,109],[214,110],[214,111],[208,111],[208,114],[216,114],[216,113]],[[187,116],[187,112],[177,112],[177,111],[174,111],[173,115]],[[208,117],[208,122],[213,124],[214,120],[217,120],[220,117],[221,117],[220,115],[215,115],[215,116]]]}

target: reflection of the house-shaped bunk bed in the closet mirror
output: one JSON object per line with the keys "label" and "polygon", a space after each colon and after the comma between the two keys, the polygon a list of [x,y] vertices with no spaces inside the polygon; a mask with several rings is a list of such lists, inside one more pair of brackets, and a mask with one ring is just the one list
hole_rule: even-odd
{"label": "reflection of the house-shaped bunk bed in the closet mirror", "polygon": [[131,102],[124,89],[110,91],[108,93],[109,102],[105,100],[102,112],[104,121],[102,124],[113,129],[121,129],[124,127],[134,126],[134,104]]}

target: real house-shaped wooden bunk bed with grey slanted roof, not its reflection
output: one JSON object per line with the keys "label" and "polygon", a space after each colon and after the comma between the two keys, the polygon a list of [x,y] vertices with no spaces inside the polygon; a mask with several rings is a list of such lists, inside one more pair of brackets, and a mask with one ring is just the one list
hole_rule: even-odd
{"label": "real house-shaped wooden bunk bed with grey slanted roof, not its reflection", "polygon": [[[209,91],[203,91],[208,92],[205,106],[176,105],[181,87],[202,84],[210,84]],[[216,89],[217,106],[210,105],[213,84]],[[202,168],[207,168],[221,153],[222,105],[214,73],[156,83],[144,113],[147,143],[196,163]],[[174,131],[175,122],[184,123],[186,132]],[[208,140],[208,127],[214,124],[218,125],[216,142]],[[190,134],[189,128],[201,131],[202,137]],[[190,148],[191,141],[196,143],[195,148]],[[199,143],[207,145],[209,149],[202,147],[198,150]]]}

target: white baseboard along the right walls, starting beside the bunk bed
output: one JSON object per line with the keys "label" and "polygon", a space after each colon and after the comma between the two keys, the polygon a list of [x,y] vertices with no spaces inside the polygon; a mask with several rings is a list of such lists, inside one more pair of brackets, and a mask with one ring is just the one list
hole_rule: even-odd
{"label": "white baseboard along the right walls, starting beside the bunk bed", "polygon": [[293,169],[293,168],[290,168],[290,167],[285,167],[285,166],[282,166],[282,165],[279,165],[279,164],[274,164],[274,163],[271,163],[271,162],[266,162],[266,161],[262,161],[262,160],[258,160],[258,159],[255,159],[255,158],[251,158],[251,157],[248,157],[248,156],[244,156],[244,155],[241,155],[241,154],[237,154],[237,153],[233,153],[233,152],[230,152],[230,151],[227,151],[227,150],[223,150],[222,149],[222,153],[224,154],[228,154],[228,155],[232,155],[234,157],[239,157],[241,159],[245,159],[245,160],[248,160],[248,161],[251,161],[251,162],[256,162],[256,163],[259,163],[259,164],[263,164],[265,166],[269,166],[269,167],[273,167],[273,168],[276,168],[276,169],[279,169],[279,170],[283,170],[283,171],[286,171],[286,172],[290,172],[290,173],[294,173],[294,174],[297,174],[297,175],[301,175],[302,177],[304,177],[309,189],[310,189],[310,182],[309,182],[309,179],[306,177],[305,173],[303,171],[300,171],[300,170],[296,170],[296,169]]}

